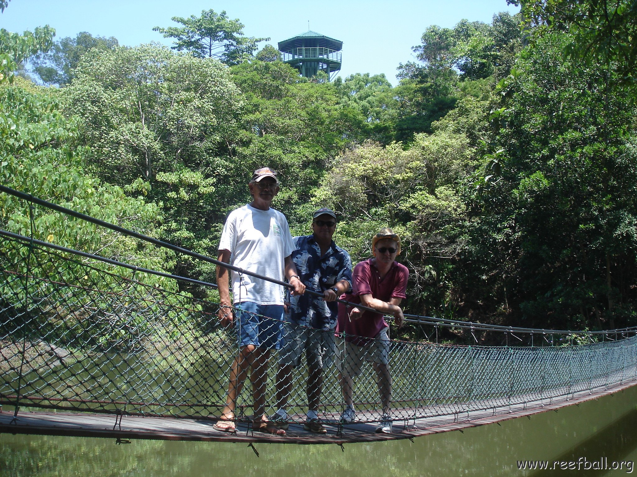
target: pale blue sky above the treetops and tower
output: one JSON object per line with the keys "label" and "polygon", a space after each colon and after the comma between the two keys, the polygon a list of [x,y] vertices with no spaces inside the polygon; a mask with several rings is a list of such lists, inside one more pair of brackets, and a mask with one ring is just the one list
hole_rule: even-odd
{"label": "pale blue sky above the treetops and tower", "polygon": [[506,0],[11,0],[0,27],[22,32],[48,24],[57,39],[87,31],[114,36],[120,45],[171,45],[152,28],[178,26],[171,17],[198,17],[210,8],[239,18],[247,36],[270,37],[275,47],[308,31],[309,20],[311,30],[343,41],[341,76],[385,73],[394,86],[396,67],[414,60],[412,46],[429,25],[451,28],[462,18],[490,23],[494,13],[519,11]]}

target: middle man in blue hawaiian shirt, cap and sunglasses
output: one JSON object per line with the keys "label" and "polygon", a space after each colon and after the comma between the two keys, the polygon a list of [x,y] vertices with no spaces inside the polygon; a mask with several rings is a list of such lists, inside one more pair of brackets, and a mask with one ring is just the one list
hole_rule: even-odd
{"label": "middle man in blue hawaiian shirt, cap and sunglasses", "polygon": [[292,368],[301,364],[303,351],[308,364],[308,413],[303,425],[306,431],[326,434],[318,418],[318,404],[323,385],[323,370],[333,359],[334,328],[338,316],[336,298],[352,286],[352,259],[347,251],[332,240],[336,231],[336,214],[318,209],[313,215],[312,235],[294,237],[296,250],[292,261],[306,289],[322,294],[306,293],[290,297],[283,323],[276,374],[278,411],[271,417],[280,429],[287,429],[287,401],[292,386]]}

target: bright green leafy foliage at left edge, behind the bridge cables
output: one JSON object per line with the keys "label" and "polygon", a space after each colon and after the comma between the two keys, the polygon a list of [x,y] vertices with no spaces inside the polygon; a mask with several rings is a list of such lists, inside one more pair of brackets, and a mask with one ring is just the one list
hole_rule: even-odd
{"label": "bright green leafy foliage at left edge, behind the bridge cables", "polygon": [[[66,119],[57,100],[47,95],[43,88],[34,88],[22,79],[16,79],[11,86],[0,86],[0,177],[3,184],[95,218],[154,235],[157,221],[161,219],[159,207],[140,197],[129,197],[122,188],[85,174],[82,165],[87,149],[70,145],[77,134],[77,120]],[[31,209],[25,201],[10,195],[0,197],[0,226],[10,232],[155,270],[170,268],[174,260],[172,252],[44,207]],[[101,272],[106,268],[103,263],[92,263],[87,268],[87,264],[94,261],[78,261],[76,257],[68,261],[51,260],[46,252],[29,253],[28,247],[15,247],[6,240],[0,256],[3,266],[18,276],[30,274],[50,280],[41,282],[38,289],[29,291],[28,295],[21,280],[7,280],[1,284],[3,306],[8,308],[5,319],[11,318],[13,310],[13,324],[17,324],[15,320],[27,319],[24,307],[32,307],[33,301],[42,310],[37,329],[46,333],[49,339],[62,342],[78,339],[71,328],[59,326],[57,321],[65,315],[69,326],[81,322],[83,329],[92,328],[92,336],[96,339],[99,336],[105,347],[112,341],[132,338],[123,335],[127,332],[121,329],[111,328],[99,311],[111,310],[110,296],[96,299],[80,293],[82,296],[70,300],[68,290],[53,285],[62,282],[74,284],[78,289],[94,287],[112,293],[124,291],[128,284]],[[28,271],[27,266],[30,267]],[[147,281],[150,286],[176,290],[174,280],[151,276]],[[89,301],[94,309],[92,313],[83,309]],[[144,317],[136,317],[131,312],[131,320],[139,325],[131,328],[134,333],[141,332]],[[3,326],[11,324],[3,320]],[[36,329],[34,327],[32,323],[28,329]]]}

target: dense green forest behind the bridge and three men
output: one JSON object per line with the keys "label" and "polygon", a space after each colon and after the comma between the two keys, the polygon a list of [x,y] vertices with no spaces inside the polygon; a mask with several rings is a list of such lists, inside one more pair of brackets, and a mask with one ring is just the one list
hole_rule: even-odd
{"label": "dense green forest behind the bridge and three men", "polygon": [[[633,326],[637,11],[627,0],[610,14],[607,1],[559,3],[527,1],[490,24],[423,25],[396,86],[382,74],[301,78],[212,10],[157,27],[173,48],[1,29],[0,176],[216,256],[225,216],[269,165],[282,181],[274,206],[296,235],[332,207],[355,262],[378,228],[403,237],[407,312]],[[43,240],[214,280],[208,264],[59,214],[34,220]],[[27,206],[0,196],[0,225],[25,233]]]}

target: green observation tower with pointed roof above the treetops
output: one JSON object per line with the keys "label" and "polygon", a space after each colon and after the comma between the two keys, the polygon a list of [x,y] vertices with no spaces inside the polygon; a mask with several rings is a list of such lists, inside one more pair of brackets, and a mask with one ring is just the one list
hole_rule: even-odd
{"label": "green observation tower with pointed roof above the treetops", "polygon": [[315,31],[308,30],[279,41],[278,48],[283,62],[295,67],[305,78],[313,78],[323,71],[331,81],[341,69],[343,42]]}

